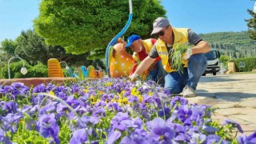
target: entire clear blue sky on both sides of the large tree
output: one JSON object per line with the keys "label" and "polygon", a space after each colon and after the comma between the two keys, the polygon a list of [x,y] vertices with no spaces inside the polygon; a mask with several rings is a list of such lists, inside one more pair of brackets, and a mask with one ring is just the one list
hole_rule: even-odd
{"label": "entire clear blue sky on both sides of the large tree", "polygon": [[[0,0],[0,42],[14,40],[33,27],[41,0]],[[191,28],[198,34],[247,30],[255,0],[162,0],[174,27]],[[125,24],[125,23],[124,23]]]}

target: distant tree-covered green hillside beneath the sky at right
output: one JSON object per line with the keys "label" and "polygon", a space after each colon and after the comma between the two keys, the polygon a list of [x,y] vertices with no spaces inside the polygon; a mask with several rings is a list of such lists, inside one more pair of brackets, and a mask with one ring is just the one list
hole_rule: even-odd
{"label": "distant tree-covered green hillside beneath the sky at right", "polygon": [[256,41],[249,37],[247,31],[218,32],[200,34],[200,36],[210,43],[212,49],[217,49],[225,55],[232,55],[233,58],[256,56]]}

